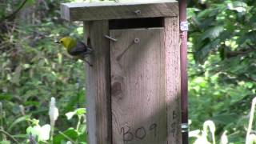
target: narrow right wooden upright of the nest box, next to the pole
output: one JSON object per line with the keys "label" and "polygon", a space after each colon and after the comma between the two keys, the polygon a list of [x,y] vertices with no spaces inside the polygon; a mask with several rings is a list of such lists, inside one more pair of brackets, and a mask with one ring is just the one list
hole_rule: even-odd
{"label": "narrow right wooden upright of the nest box, next to the pole", "polygon": [[168,144],[182,143],[181,71],[178,17],[165,18]]}

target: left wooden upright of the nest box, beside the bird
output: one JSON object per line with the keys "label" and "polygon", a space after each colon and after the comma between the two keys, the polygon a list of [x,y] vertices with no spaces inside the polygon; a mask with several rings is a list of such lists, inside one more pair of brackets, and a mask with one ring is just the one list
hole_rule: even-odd
{"label": "left wooden upright of the nest box, beside the bird", "polygon": [[[112,144],[110,104],[110,47],[108,21],[85,22],[90,30],[90,44],[94,54],[86,65],[87,129],[90,144]],[[87,39],[86,39],[87,41]]]}

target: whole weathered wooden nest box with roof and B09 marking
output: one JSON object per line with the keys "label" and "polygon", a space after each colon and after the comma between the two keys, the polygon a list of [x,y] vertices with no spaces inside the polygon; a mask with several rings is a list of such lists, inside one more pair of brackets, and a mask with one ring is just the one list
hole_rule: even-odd
{"label": "whole weathered wooden nest box with roof and B09 marking", "polygon": [[178,144],[178,2],[63,3],[94,49],[86,66],[90,144]]}

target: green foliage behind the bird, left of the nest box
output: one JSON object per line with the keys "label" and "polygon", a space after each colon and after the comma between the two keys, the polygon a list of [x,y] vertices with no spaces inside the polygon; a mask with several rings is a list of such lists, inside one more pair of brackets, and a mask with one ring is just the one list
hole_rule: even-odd
{"label": "green foliage behind the bird, left of the nest box", "polygon": [[[55,97],[62,112],[55,125],[57,130],[63,134],[67,131],[66,135],[73,138],[69,130],[77,126],[74,140],[86,142],[86,127],[80,125],[84,109],[78,109],[79,122],[65,117],[65,113],[85,107],[84,63],[70,58],[62,46],[54,43],[66,35],[82,39],[82,23],[61,20],[59,4],[64,1],[60,0],[29,0],[14,17],[7,18],[22,2],[5,1],[0,5],[8,7],[0,12],[0,130],[18,142],[26,142],[29,134],[44,141],[45,133],[40,130],[48,126],[49,99]],[[30,118],[37,118],[39,123],[32,125],[27,121]],[[54,141],[65,140],[58,138],[60,133]],[[13,143],[2,133],[0,140]]]}

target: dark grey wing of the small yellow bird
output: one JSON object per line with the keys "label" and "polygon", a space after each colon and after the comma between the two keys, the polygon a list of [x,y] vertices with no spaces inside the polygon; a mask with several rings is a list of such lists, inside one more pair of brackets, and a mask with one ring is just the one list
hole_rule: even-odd
{"label": "dark grey wing of the small yellow bird", "polygon": [[71,55],[80,55],[80,54],[90,54],[91,49],[89,46],[86,46],[83,42],[77,42],[77,46],[73,49],[69,50],[69,54]]}

